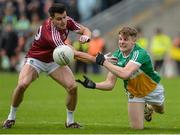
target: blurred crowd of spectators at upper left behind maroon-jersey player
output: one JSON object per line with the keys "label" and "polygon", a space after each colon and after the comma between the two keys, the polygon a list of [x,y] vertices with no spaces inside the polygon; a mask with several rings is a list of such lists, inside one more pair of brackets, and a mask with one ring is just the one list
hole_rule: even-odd
{"label": "blurred crowd of spectators at upper left behind maroon-jersey player", "polygon": [[65,4],[68,15],[82,22],[119,1],[0,0],[0,70],[19,71],[21,60],[53,3]]}

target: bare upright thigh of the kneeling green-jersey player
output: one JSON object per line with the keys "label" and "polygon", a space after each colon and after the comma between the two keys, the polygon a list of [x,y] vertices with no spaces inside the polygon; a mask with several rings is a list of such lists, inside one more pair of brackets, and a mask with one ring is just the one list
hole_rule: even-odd
{"label": "bare upright thigh of the kneeling green-jersey player", "polygon": [[144,103],[128,103],[129,120],[132,127],[142,129],[144,127]]}

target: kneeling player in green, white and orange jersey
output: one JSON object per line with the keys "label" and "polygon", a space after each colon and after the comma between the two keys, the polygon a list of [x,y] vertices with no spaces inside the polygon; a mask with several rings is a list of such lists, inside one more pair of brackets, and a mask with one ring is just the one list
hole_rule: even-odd
{"label": "kneeling player in green, white and orange jersey", "polygon": [[108,91],[113,89],[117,78],[123,79],[130,125],[134,129],[143,129],[144,118],[151,121],[153,112],[164,113],[164,88],[149,54],[135,43],[136,39],[136,29],[123,27],[119,31],[118,49],[112,55],[117,63],[112,64],[103,54],[96,56],[96,63],[110,71],[106,80],[95,83],[84,76],[84,80],[76,81],[86,88]]}

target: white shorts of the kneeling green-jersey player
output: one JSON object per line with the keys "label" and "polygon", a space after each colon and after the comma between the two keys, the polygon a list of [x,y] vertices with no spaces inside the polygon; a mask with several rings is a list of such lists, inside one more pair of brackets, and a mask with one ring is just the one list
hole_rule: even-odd
{"label": "white shorts of the kneeling green-jersey player", "polygon": [[161,84],[158,84],[156,89],[149,93],[147,96],[143,98],[132,97],[131,94],[128,93],[128,102],[142,102],[148,103],[152,105],[162,105],[164,103],[164,88]]}

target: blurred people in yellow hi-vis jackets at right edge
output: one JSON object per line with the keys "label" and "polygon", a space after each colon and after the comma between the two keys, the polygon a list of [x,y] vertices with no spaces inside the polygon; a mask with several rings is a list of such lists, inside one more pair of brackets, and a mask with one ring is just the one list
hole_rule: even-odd
{"label": "blurred people in yellow hi-vis jackets at right edge", "polygon": [[144,36],[142,28],[138,27],[137,30],[137,43],[149,52],[155,70],[166,77],[180,76],[180,33],[170,37],[163,29],[155,28],[149,40]]}

